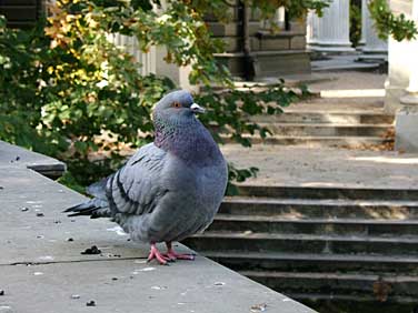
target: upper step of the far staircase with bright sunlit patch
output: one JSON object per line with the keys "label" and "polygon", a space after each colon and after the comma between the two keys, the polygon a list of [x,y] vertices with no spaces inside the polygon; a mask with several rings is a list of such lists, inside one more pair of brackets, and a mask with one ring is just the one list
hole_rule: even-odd
{"label": "upper step of the far staircase with bright sunlit patch", "polygon": [[285,113],[276,115],[257,115],[251,121],[257,123],[315,123],[315,124],[391,124],[395,117],[381,112],[327,112],[285,109]]}

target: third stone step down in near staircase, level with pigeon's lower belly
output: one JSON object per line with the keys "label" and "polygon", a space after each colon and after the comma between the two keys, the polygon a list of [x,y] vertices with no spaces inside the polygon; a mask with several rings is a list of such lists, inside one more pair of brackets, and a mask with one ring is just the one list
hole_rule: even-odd
{"label": "third stone step down in near staircase, level with pigeon's lower belly", "polygon": [[217,214],[208,231],[339,235],[418,235],[418,220],[290,219]]}

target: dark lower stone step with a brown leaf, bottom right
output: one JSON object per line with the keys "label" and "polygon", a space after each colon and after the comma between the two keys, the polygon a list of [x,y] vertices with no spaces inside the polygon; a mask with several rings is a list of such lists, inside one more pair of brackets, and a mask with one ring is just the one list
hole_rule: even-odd
{"label": "dark lower stone step with a brown leaf, bottom right", "polygon": [[240,274],[283,293],[328,293],[389,296],[417,296],[418,276],[365,275],[341,273],[290,273],[240,271]]}

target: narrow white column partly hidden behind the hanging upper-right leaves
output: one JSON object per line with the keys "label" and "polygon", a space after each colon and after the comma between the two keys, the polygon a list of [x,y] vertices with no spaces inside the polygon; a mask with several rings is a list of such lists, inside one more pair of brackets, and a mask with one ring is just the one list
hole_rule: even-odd
{"label": "narrow white column partly hidden behind the hanging upper-right leaves", "polygon": [[361,37],[365,34],[365,47],[362,47],[364,53],[388,53],[388,40],[381,40],[377,36],[377,31],[375,28],[375,22],[370,18],[369,9],[367,8],[368,0],[362,0],[366,3],[366,10],[361,10],[361,13],[364,13],[365,22],[362,23],[365,27],[365,30],[361,31]]}

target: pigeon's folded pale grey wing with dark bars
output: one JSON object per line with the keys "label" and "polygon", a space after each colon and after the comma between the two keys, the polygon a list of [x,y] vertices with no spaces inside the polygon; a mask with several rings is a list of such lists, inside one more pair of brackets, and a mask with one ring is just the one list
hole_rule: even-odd
{"label": "pigeon's folded pale grey wing with dark bars", "polygon": [[113,214],[152,212],[168,190],[161,185],[167,152],[153,143],[142,147],[107,181],[106,193]]}

